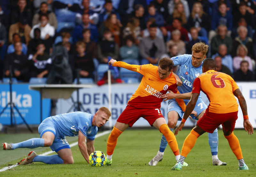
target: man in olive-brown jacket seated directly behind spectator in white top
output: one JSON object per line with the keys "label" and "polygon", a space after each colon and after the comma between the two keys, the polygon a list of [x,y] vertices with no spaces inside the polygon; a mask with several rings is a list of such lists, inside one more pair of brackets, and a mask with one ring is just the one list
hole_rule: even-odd
{"label": "man in olive-brown jacket seated directly behind spectator in white top", "polygon": [[48,15],[48,18],[49,18],[49,24],[51,26],[54,27],[54,29],[56,30],[57,29],[57,26],[58,26],[58,22],[57,22],[57,19],[56,19],[56,16],[53,12],[51,11],[48,11],[48,4],[46,2],[42,2],[41,5],[40,5],[40,11],[37,12],[34,17],[33,17],[33,20],[32,20],[32,26],[35,26],[37,25],[38,23],[40,23],[40,16],[43,15],[43,14],[47,14]]}

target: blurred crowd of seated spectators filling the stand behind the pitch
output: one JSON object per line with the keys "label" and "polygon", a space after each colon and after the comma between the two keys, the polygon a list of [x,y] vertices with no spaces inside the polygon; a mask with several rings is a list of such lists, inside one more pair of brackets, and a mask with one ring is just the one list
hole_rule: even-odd
{"label": "blurred crowd of seated spectators filling the stand behind the pitch", "polygon": [[202,41],[217,71],[255,81],[255,21],[256,0],[0,0],[0,79],[97,82],[109,58],[157,65]]}

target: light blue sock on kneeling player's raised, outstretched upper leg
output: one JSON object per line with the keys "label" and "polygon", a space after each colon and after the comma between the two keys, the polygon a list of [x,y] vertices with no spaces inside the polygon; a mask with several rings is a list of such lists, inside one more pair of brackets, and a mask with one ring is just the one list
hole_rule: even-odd
{"label": "light blue sock on kneeling player's raised, outstretched upper leg", "polygon": [[36,147],[44,147],[44,139],[43,138],[32,138],[27,141],[12,144],[12,150],[17,149],[17,148],[33,149]]}

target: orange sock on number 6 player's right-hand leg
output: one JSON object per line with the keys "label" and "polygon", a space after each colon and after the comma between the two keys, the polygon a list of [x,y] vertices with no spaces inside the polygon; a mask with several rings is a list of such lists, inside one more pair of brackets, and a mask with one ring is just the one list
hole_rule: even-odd
{"label": "orange sock on number 6 player's right-hand leg", "polygon": [[237,160],[243,159],[242,150],[239,144],[238,139],[236,138],[236,135],[232,132],[230,135],[225,136],[228,140],[228,144],[232,150],[232,152],[236,155]]}

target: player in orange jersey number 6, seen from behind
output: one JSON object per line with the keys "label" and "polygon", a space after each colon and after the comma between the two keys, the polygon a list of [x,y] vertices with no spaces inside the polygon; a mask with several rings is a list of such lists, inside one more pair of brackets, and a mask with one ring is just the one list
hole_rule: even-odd
{"label": "player in orange jersey number 6, seen from behind", "polygon": [[239,141],[233,133],[238,112],[235,95],[244,115],[244,130],[248,131],[248,134],[253,134],[253,127],[248,119],[246,102],[233,78],[228,74],[216,72],[216,69],[215,61],[211,58],[206,59],[202,67],[203,74],[199,75],[193,83],[192,96],[187,104],[183,119],[175,130],[175,135],[181,131],[188,116],[195,108],[200,90],[207,95],[210,104],[185,139],[180,159],[172,167],[172,170],[181,170],[183,161],[194,147],[197,138],[205,132],[212,133],[220,124],[222,125],[224,136],[227,138],[228,144],[238,160],[238,170],[249,169],[244,163]]}

